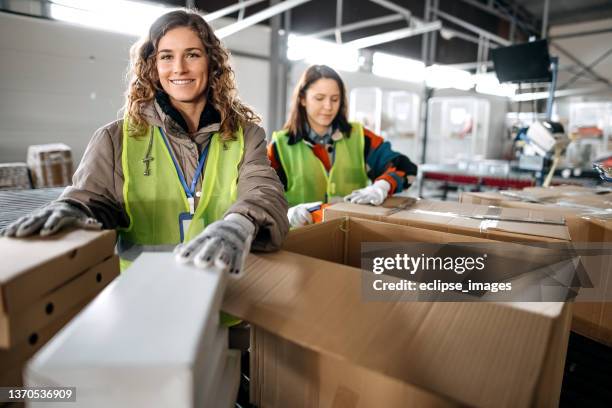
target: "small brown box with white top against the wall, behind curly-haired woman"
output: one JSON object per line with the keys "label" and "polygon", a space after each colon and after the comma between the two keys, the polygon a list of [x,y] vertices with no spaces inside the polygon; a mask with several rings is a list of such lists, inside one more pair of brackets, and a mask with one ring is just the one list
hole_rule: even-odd
{"label": "small brown box with white top against the wall, behind curly-haired woman", "polygon": [[28,147],[28,167],[35,188],[62,187],[72,180],[72,151],[63,143]]}

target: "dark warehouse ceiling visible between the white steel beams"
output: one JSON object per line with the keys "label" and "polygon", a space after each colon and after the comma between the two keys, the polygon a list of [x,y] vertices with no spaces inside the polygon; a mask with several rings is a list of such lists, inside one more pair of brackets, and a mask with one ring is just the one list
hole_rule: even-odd
{"label": "dark warehouse ceiling visible between the white steel beams", "polygon": [[[492,34],[510,38],[512,28],[510,21],[515,16],[518,21],[514,31],[514,41],[524,42],[529,36],[539,36],[545,0],[438,0],[439,9],[454,17],[480,27]],[[172,5],[185,5],[182,0],[159,1]],[[197,8],[211,12],[238,0],[196,0]],[[425,0],[391,0],[412,12],[414,16],[424,15]],[[343,0],[342,24],[354,23],[375,17],[386,16],[393,12],[375,4],[370,0]],[[432,1],[435,3],[435,0]],[[298,33],[313,33],[329,29],[336,24],[336,0],[311,0],[291,11],[291,31]],[[263,1],[247,8],[243,17],[261,11],[268,7],[269,2]],[[492,10],[492,11],[491,11]],[[238,13],[231,17],[237,18]],[[598,20],[612,17],[612,1],[610,0],[549,0],[549,26],[577,23],[588,20]],[[441,18],[445,28],[466,33],[474,38],[477,36],[464,27]],[[381,33],[406,26],[399,21],[375,27],[363,28],[358,31],[342,34],[342,41]],[[437,47],[435,61],[442,64],[470,63],[477,60],[477,41],[469,41],[458,36],[448,39],[437,32]],[[329,37],[330,40],[334,38]],[[422,36],[415,36],[372,47],[373,50],[393,53],[409,58],[421,59]]]}

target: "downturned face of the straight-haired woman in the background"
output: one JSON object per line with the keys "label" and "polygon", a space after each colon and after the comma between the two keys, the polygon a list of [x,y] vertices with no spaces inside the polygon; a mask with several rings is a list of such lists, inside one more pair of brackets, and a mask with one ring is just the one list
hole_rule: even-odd
{"label": "downturned face of the straight-haired woman in the background", "polygon": [[330,78],[313,82],[301,100],[306,110],[308,124],[319,135],[323,135],[332,124],[340,109],[340,87]]}

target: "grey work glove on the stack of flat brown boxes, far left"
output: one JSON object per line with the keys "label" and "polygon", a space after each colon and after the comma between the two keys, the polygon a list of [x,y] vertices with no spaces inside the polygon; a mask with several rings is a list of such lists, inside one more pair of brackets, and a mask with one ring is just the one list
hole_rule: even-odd
{"label": "grey work glove on the stack of flat brown boxes, far left", "polygon": [[53,201],[10,224],[2,235],[22,238],[40,232],[44,237],[53,235],[65,227],[100,230],[102,224],[74,205]]}

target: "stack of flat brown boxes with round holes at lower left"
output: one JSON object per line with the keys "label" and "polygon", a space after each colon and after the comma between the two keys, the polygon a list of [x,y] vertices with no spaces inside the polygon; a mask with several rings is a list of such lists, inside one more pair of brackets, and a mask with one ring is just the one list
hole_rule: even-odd
{"label": "stack of flat brown boxes with round holes at lower left", "polygon": [[0,385],[119,274],[113,231],[0,238]]}

